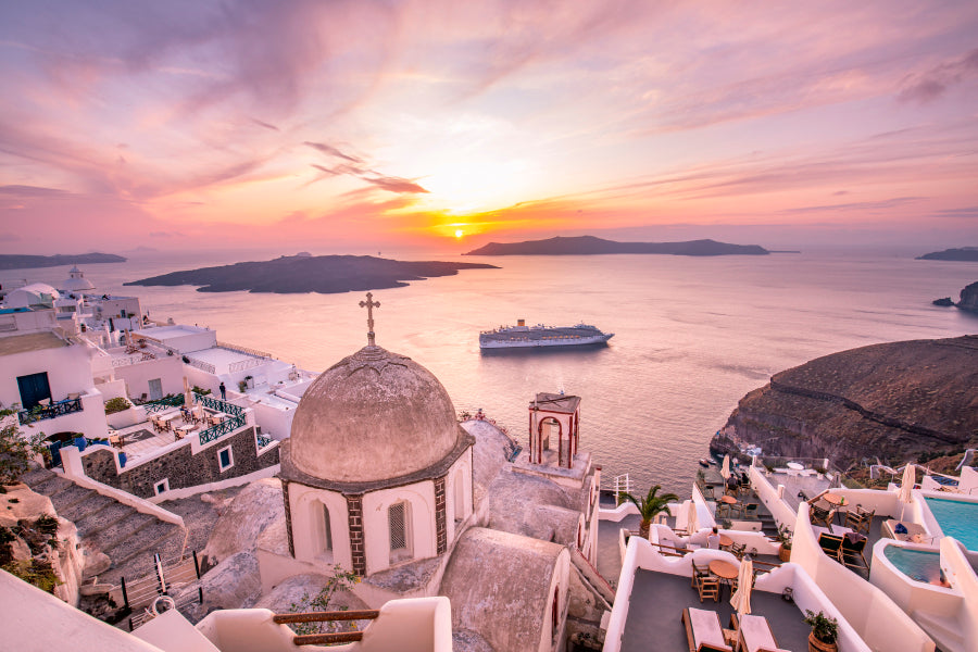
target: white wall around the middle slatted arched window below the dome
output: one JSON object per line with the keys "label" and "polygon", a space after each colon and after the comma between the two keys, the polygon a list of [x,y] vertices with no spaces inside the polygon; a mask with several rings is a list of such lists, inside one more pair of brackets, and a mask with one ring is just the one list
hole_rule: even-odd
{"label": "white wall around the middle slatted arched window below the dome", "polygon": [[363,497],[363,538],[366,572],[372,575],[390,567],[390,528],[387,510],[396,502],[411,504],[409,537],[411,559],[435,556],[435,482],[423,480],[405,487],[371,491]]}

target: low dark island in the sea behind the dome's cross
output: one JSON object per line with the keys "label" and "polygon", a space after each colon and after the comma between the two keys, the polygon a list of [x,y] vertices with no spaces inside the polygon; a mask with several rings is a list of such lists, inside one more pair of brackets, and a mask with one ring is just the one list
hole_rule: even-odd
{"label": "low dark island in the sea behind the dome's cross", "polygon": [[274,292],[292,294],[318,292],[333,294],[363,290],[401,288],[409,280],[451,276],[459,269],[498,269],[485,263],[446,263],[437,261],[394,261],[372,255],[300,255],[272,261],[236,263],[172,272],[125,285],[195,285],[198,292]]}

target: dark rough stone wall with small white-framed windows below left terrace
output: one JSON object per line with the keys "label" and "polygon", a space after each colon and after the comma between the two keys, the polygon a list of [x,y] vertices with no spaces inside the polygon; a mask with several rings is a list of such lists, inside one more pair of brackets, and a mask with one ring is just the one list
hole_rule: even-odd
{"label": "dark rough stone wall with small white-framed windows below left terrace", "polygon": [[[220,482],[237,476],[249,475],[278,464],[278,447],[262,450],[254,438],[254,428],[247,428],[229,436],[197,454],[189,446],[178,447],[131,468],[118,471],[115,454],[111,450],[99,450],[84,456],[85,475],[100,482],[127,491],[140,498],[155,494],[156,484],[166,479],[171,490],[186,489],[198,485]],[[218,452],[231,447],[234,465],[221,471]]]}

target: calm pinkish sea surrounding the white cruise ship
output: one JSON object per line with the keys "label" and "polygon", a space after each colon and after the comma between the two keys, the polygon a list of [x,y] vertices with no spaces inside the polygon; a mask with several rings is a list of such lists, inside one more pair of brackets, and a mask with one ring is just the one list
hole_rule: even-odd
{"label": "calm pinkish sea surrounding the white cruise ship", "polygon": [[[278,252],[280,253],[280,252]],[[267,260],[241,254],[134,259],[88,265],[100,291],[137,294],[154,318],[200,324],[218,338],[323,371],[366,343],[356,294],[204,293],[123,287],[176,269]],[[392,256],[399,258],[399,256]],[[409,258],[409,256],[400,256]],[[451,256],[410,256],[452,260]],[[482,262],[484,259],[460,260]],[[581,448],[607,481],[629,473],[643,490],[688,494],[697,461],[737,401],[780,369],[876,342],[978,333],[978,316],[937,308],[978,280],[978,264],[841,254],[691,259],[669,255],[504,256],[375,291],[377,343],[413,358],[455,409],[482,408],[527,439],[535,392],[578,394]],[[66,267],[0,273],[45,283]],[[481,355],[478,333],[517,318],[615,334],[607,348]]]}

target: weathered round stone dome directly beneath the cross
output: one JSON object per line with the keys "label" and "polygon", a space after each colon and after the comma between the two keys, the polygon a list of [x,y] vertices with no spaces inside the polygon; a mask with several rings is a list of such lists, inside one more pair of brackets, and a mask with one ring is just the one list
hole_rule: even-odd
{"label": "weathered round stone dome directly beneath the cross", "polygon": [[393,479],[443,460],[460,432],[452,401],[431,372],[364,347],[305,390],[292,419],[290,457],[322,480]]}

